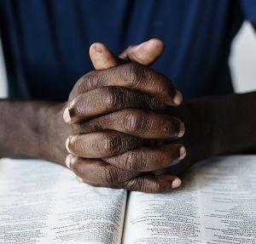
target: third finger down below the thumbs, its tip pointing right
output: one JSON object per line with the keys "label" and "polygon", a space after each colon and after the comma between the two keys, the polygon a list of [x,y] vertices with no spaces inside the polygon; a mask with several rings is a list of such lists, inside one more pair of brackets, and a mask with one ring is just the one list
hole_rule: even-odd
{"label": "third finger down below the thumbs, its tip pointing right", "polygon": [[153,111],[124,109],[79,123],[76,133],[111,129],[144,139],[178,139],[185,132],[184,123],[176,117]]}

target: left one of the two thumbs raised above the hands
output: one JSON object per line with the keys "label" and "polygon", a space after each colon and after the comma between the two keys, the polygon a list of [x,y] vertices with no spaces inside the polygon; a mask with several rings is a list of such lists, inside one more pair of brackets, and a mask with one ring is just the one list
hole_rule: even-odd
{"label": "left one of the two thumbs raised above the hands", "polygon": [[93,43],[90,46],[89,54],[96,71],[106,70],[122,64],[122,61],[103,43]]}

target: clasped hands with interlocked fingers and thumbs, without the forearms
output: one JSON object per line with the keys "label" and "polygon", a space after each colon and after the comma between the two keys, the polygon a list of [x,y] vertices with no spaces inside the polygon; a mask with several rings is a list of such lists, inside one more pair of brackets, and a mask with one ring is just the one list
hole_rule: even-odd
{"label": "clasped hands with interlocked fingers and thumbs, without the forearms", "polygon": [[148,68],[162,52],[158,39],[119,57],[102,43],[90,47],[96,71],[79,79],[63,113],[73,131],[66,164],[80,181],[143,192],[181,184],[172,167],[189,165],[183,163],[185,125],[174,116],[183,97],[167,77]]}

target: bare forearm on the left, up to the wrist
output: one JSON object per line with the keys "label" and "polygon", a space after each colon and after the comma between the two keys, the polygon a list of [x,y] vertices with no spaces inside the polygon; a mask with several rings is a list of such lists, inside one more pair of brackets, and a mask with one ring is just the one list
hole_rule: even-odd
{"label": "bare forearm on the left, up to the wrist", "polygon": [[[60,125],[54,126],[61,122],[58,105],[43,101],[5,99],[0,100],[0,114],[1,157],[64,162],[63,144],[67,135]],[[55,141],[57,139],[60,140],[59,144]],[[58,146],[53,146],[55,144]]]}

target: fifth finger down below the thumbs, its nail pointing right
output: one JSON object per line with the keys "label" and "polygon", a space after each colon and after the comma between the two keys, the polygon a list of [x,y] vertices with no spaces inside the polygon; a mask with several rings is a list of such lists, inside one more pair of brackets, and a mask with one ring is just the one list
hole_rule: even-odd
{"label": "fifth finger down below the thumbs, its nail pointing right", "polygon": [[109,164],[129,171],[150,172],[172,167],[183,160],[186,150],[180,144],[143,146],[118,156],[103,158]]}

